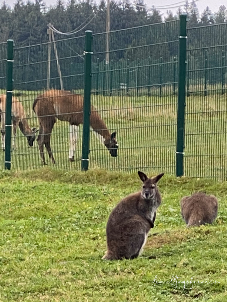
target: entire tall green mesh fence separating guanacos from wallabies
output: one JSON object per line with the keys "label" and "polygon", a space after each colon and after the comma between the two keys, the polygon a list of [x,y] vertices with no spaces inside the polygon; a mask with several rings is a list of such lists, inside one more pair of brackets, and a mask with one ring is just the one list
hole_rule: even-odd
{"label": "entire tall green mesh fence separating guanacos from wallabies", "polygon": [[[84,82],[84,61],[90,53],[85,52],[84,56],[85,36],[15,47],[14,96],[23,105],[25,114],[19,125],[23,133],[17,130],[16,146],[11,152],[12,168],[41,167],[40,151],[44,148],[45,162],[53,168],[81,169],[81,156],[87,159],[89,152],[90,168],[125,172],[142,169],[148,173],[164,171],[172,175],[176,172],[177,175],[225,179],[227,24],[188,29],[186,52],[186,35],[179,35],[179,27],[183,30],[185,23],[179,26],[176,20],[110,32],[108,64],[107,33],[93,34],[91,96],[85,89],[85,99],[88,107],[90,99],[94,106],[90,123],[100,135],[90,130],[89,148],[86,147],[87,127],[82,127],[83,111],[87,110],[83,104],[76,108],[79,127],[79,122],[73,126],[67,122],[75,108],[70,109],[65,98],[65,111],[57,108],[61,112],[56,123],[46,104],[42,103],[45,118],[41,124],[32,110],[34,100],[48,87],[63,87],[76,94],[83,94],[84,85],[89,87],[89,81]],[[179,83],[178,79],[181,79]],[[3,88],[4,83],[0,85]],[[85,115],[88,117],[88,114],[89,111]],[[40,136],[43,125],[47,132]],[[29,148],[26,137],[31,137],[34,128],[39,129],[36,137],[39,134],[40,142],[44,137],[44,146],[34,141],[34,146]],[[108,145],[110,135],[115,132],[117,142],[113,140],[113,143],[119,144],[117,157],[107,150],[111,147]],[[45,138],[49,139],[50,133],[49,145]],[[48,159],[45,147],[52,149],[55,164]],[[85,162],[88,161],[83,164],[86,168]]]}

